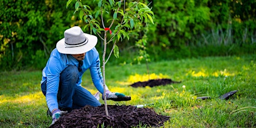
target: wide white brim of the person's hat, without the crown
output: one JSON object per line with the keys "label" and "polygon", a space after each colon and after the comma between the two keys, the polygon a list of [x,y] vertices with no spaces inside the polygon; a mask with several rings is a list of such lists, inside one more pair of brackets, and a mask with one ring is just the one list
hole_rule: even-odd
{"label": "wide white brim of the person's hat, without the crown", "polygon": [[85,45],[79,47],[68,47],[65,43],[65,38],[62,38],[60,41],[57,42],[56,45],[58,52],[63,54],[77,55],[92,50],[92,48],[95,47],[97,44],[97,37],[86,33],[83,34],[88,38],[88,42]]}

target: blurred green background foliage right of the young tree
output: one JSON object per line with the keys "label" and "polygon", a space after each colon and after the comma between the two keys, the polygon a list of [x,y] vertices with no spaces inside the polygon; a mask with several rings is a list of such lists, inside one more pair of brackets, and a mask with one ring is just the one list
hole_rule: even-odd
{"label": "blurred green background foliage right of the young tree", "polygon": [[[156,61],[242,51],[240,45],[255,44],[255,6],[255,1],[153,1],[155,25],[147,33],[149,54]],[[200,47],[209,48],[201,52]]]}

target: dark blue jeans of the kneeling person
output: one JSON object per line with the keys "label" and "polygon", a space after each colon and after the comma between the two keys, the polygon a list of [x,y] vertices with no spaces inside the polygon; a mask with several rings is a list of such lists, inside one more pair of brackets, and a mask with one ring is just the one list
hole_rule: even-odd
{"label": "dark blue jeans of the kneeling person", "polygon": [[[61,72],[58,87],[58,107],[61,110],[80,109],[86,105],[100,106],[101,103],[85,88],[77,86],[78,70],[76,66],[68,66]],[[46,96],[47,81],[41,84],[43,95]],[[57,86],[57,85],[56,85]]]}

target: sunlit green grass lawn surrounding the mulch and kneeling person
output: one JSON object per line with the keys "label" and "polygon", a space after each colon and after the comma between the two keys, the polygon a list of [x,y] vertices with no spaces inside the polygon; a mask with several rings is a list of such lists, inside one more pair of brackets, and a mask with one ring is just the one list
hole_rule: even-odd
{"label": "sunlit green grass lawn surrounding the mulch and kneeling person", "polygon": [[[131,96],[131,101],[109,105],[149,105],[157,114],[170,116],[165,127],[256,127],[256,56],[205,57],[146,65],[106,65],[111,91]],[[137,81],[171,78],[172,85],[134,88]],[[47,105],[41,92],[41,71],[0,73],[0,127],[48,127]],[[97,90],[90,72],[82,86]],[[184,88],[184,87],[185,88]],[[238,90],[228,100],[218,97]],[[209,100],[196,100],[210,96]],[[100,100],[102,104],[104,102]]]}

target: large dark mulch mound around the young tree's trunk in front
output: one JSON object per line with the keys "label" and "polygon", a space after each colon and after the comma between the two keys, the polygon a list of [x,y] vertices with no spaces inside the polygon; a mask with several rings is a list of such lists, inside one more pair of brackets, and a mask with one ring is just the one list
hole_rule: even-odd
{"label": "large dark mulch mound around the young tree's trunk in front", "polygon": [[152,126],[160,127],[169,116],[158,115],[149,108],[137,108],[126,105],[107,105],[109,116],[106,116],[105,107],[85,106],[81,109],[73,110],[60,117],[55,124],[50,127],[134,127]]}

